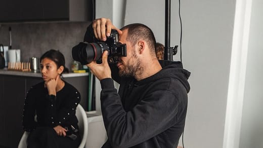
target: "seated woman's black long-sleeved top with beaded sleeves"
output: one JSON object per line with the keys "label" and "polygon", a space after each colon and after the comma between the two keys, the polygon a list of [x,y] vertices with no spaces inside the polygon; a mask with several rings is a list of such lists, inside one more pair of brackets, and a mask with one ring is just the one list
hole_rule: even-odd
{"label": "seated woman's black long-sleeved top with beaded sleeves", "polygon": [[[49,95],[45,82],[38,83],[27,92],[23,112],[23,129],[32,131],[37,126],[67,128],[71,125],[78,129],[75,116],[80,102],[80,93],[75,87],[65,82],[65,86],[56,96]],[[36,115],[36,121],[35,121]]]}

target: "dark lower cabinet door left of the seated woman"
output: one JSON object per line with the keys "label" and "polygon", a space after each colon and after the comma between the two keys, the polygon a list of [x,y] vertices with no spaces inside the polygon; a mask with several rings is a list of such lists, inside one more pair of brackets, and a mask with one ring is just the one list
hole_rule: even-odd
{"label": "dark lower cabinet door left of the seated woman", "polygon": [[25,100],[25,78],[5,76],[4,80],[5,143],[7,147],[17,147],[23,134],[22,114]]}

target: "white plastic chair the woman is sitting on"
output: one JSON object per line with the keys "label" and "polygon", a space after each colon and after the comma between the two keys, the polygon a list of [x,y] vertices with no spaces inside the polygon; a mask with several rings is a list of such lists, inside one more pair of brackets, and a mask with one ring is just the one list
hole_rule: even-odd
{"label": "white plastic chair the woman is sitting on", "polygon": [[[83,107],[78,104],[77,108],[76,108],[76,117],[78,120],[78,127],[79,127],[79,134],[81,136],[81,142],[78,146],[78,148],[83,148],[86,140],[87,140],[87,131],[88,131],[88,123],[87,123],[87,116],[85,113],[85,110],[83,109]],[[24,132],[24,134],[22,135],[20,142],[18,144],[18,148],[26,148],[27,147],[27,137],[28,137],[28,132]]]}

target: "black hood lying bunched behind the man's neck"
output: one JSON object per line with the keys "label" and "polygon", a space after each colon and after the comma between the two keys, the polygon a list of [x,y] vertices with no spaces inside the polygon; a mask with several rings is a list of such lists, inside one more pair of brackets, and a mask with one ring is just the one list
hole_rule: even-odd
{"label": "black hood lying bunched behind the man's neck", "polygon": [[190,85],[188,83],[188,78],[190,77],[191,72],[183,68],[183,64],[180,61],[168,61],[168,60],[159,60],[159,63],[162,66],[162,70],[157,72],[155,75],[146,78],[137,82],[138,85],[145,84],[150,81],[160,80],[163,78],[174,78],[179,80],[187,90],[187,93],[190,91]]}

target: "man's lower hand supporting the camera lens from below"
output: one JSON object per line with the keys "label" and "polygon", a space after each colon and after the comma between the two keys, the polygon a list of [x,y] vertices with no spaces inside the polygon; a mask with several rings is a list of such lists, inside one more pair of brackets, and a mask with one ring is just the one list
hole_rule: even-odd
{"label": "man's lower hand supporting the camera lens from below", "polygon": [[100,81],[102,79],[111,78],[111,70],[108,64],[108,51],[103,52],[101,64],[97,64],[96,61],[92,61],[90,64],[87,64],[87,66]]}

